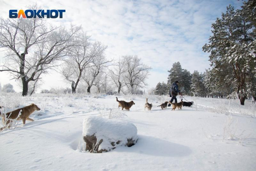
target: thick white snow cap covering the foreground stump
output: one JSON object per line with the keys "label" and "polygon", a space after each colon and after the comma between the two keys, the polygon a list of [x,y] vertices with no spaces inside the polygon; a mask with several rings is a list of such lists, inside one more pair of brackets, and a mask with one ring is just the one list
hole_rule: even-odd
{"label": "thick white snow cap covering the foreground stump", "polygon": [[127,121],[111,120],[101,117],[87,117],[83,121],[83,136],[94,135],[103,142],[99,145],[99,150],[111,150],[111,142],[121,141],[116,146],[125,146],[127,139],[137,140],[137,128]]}

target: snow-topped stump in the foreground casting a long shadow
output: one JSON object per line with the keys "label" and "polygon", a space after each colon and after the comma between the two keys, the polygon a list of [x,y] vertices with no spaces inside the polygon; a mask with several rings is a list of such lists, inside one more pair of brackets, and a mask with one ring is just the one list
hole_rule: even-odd
{"label": "snow-topped stump in the foreground casting a long shadow", "polygon": [[136,144],[137,128],[126,121],[87,117],[83,121],[83,139],[86,151],[107,152],[117,146],[131,147]]}

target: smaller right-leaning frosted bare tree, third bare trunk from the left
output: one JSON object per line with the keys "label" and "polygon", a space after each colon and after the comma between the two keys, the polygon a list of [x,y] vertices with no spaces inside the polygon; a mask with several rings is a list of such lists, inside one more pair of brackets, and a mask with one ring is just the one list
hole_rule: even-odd
{"label": "smaller right-leaning frosted bare tree, third bare trunk from the left", "polygon": [[111,61],[106,60],[103,52],[100,56],[97,57],[95,61],[92,62],[92,65],[89,68],[86,68],[83,79],[87,84],[87,92],[91,92],[92,85],[95,85],[95,80],[97,76],[104,72],[104,69],[111,65]]}

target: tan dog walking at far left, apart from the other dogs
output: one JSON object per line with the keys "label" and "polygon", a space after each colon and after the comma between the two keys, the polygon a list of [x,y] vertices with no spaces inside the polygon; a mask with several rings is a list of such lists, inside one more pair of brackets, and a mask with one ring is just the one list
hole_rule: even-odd
{"label": "tan dog walking at far left, apart from the other dogs", "polygon": [[[6,121],[6,126],[9,125],[10,123],[10,119],[17,119],[17,120],[22,120],[23,124],[26,123],[26,120],[29,121],[34,121],[33,119],[29,118],[29,116],[35,111],[35,110],[41,110],[39,107],[37,107],[36,104],[30,104],[28,106],[13,110],[11,112],[6,113],[5,115],[1,113],[1,117],[2,117],[2,122],[5,122],[5,119],[7,119]],[[21,113],[19,115],[19,113]],[[8,126],[8,128],[10,128],[10,125]],[[2,131],[3,129],[5,129],[5,127],[2,127],[0,129],[0,131]]]}

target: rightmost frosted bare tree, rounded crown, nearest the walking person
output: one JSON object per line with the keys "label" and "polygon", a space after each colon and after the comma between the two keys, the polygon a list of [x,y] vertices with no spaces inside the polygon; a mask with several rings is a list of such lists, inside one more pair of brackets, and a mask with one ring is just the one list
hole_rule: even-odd
{"label": "rightmost frosted bare tree, rounded crown, nearest the walking person", "polygon": [[152,68],[143,64],[141,58],[133,55],[123,56],[126,66],[126,72],[124,73],[124,80],[127,88],[132,94],[138,87],[145,88],[147,83],[145,80],[148,78],[149,70]]}

